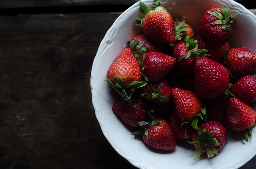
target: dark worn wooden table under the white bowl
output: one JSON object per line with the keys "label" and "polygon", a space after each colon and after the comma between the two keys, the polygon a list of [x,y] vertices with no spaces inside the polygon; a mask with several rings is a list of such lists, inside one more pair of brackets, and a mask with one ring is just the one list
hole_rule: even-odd
{"label": "dark worn wooden table under the white bowl", "polygon": [[102,134],[90,90],[99,43],[136,1],[0,0],[0,169],[136,168]]}

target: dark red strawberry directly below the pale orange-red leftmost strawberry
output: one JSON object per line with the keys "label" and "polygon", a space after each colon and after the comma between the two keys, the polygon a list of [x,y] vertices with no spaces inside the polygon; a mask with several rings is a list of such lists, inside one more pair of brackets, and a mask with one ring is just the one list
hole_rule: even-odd
{"label": "dark red strawberry directly below the pale orange-red leftmost strawberry", "polygon": [[138,122],[147,121],[147,102],[142,98],[132,98],[132,103],[117,101],[112,105],[114,114],[120,117],[125,123],[134,128],[139,128]]}

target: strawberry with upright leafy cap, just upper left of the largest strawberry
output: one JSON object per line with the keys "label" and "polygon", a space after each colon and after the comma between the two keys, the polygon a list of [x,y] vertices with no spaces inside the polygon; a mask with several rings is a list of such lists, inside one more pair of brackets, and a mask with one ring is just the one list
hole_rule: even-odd
{"label": "strawberry with upright leafy cap, just upper left of the largest strawberry", "polygon": [[173,46],[172,56],[176,59],[176,64],[171,72],[172,76],[193,74],[194,64],[197,56],[203,56],[207,51],[197,49],[197,41],[187,36],[184,42]]}

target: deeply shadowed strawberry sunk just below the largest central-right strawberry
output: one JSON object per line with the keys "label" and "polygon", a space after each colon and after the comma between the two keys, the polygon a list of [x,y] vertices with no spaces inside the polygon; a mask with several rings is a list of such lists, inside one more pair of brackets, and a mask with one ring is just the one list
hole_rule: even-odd
{"label": "deeply shadowed strawberry sunk just below the largest central-right strawberry", "polygon": [[229,102],[229,96],[223,94],[215,99],[212,104],[206,107],[206,117],[208,121],[218,121],[223,125],[226,123],[226,111]]}

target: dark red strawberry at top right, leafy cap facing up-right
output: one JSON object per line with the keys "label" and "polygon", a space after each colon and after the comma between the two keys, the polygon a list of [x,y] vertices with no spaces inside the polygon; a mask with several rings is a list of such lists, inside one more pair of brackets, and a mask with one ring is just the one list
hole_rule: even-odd
{"label": "dark red strawberry at top right, leafy cap facing up-right", "polygon": [[227,40],[236,14],[229,16],[229,8],[208,9],[200,19],[198,32],[213,43]]}

